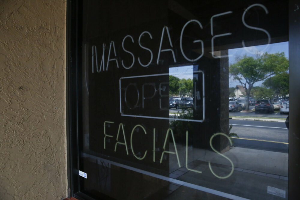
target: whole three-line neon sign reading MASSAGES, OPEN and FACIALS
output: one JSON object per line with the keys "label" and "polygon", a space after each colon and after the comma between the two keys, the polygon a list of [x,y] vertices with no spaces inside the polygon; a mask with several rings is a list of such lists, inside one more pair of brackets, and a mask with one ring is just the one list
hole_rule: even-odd
{"label": "whole three-line neon sign reading MASSAGES, OPEN and FACIALS", "polygon": [[[253,7],[261,7],[265,11],[265,14],[268,14],[268,10],[264,5],[262,5],[262,4],[252,4],[244,10],[244,12],[241,16],[241,21],[243,22],[243,25],[246,28],[264,32],[266,34],[267,38],[268,38],[268,43],[267,44],[270,44],[271,43],[271,36],[270,36],[268,31],[266,31],[265,29],[262,29],[262,28],[250,26],[245,22],[246,13],[249,12],[249,10],[251,10]],[[221,34],[214,34],[214,28],[213,28],[214,26],[213,25],[214,25],[214,21],[215,21],[216,18],[220,18],[222,16],[230,16],[232,13],[233,13],[233,11],[226,11],[226,12],[214,14],[210,18],[211,38],[208,41],[211,44],[211,46],[210,46],[211,52],[210,53],[211,53],[211,56],[213,58],[218,59],[218,58],[224,58],[224,57],[230,56],[230,55],[226,55],[226,56],[224,56],[224,55],[219,55],[219,56],[215,55],[215,49],[214,49],[215,44],[214,44],[214,42],[215,42],[216,38],[231,37],[232,33],[229,32],[229,31],[226,31],[226,32],[224,31],[224,33],[221,33]],[[154,53],[153,53],[153,52],[155,52],[154,49],[148,48],[146,45],[143,45],[143,42],[142,42],[143,40],[146,40],[146,39],[148,39],[150,41],[153,41],[154,37],[152,36],[150,31],[143,31],[142,30],[141,33],[138,33],[139,37],[136,37],[136,38],[129,35],[128,33],[125,34],[124,38],[122,36],[122,38],[123,38],[123,40],[122,40],[122,49],[121,49],[121,47],[120,47],[120,49],[121,49],[121,51],[123,50],[125,53],[127,53],[129,55],[129,58],[131,60],[129,64],[125,63],[124,60],[122,58],[119,58],[119,55],[117,55],[118,52],[116,51],[116,46],[115,46],[115,41],[116,40],[115,41],[114,40],[110,41],[110,46],[109,46],[108,52],[105,52],[106,44],[102,43],[101,62],[98,62],[97,46],[92,45],[91,46],[91,52],[92,52],[91,72],[92,73],[96,73],[96,72],[97,73],[103,73],[105,71],[108,71],[109,67],[112,67],[110,62],[112,62],[113,64],[116,62],[116,65],[114,65],[114,66],[117,67],[117,69],[120,69],[119,62],[121,62],[122,67],[126,70],[132,70],[134,68],[134,66],[137,65],[137,63],[141,67],[145,67],[145,68],[149,67],[150,64],[159,65],[160,61],[161,61],[160,58],[161,58],[162,54],[170,54],[171,60],[173,60],[171,62],[173,62],[175,64],[178,62],[178,60],[180,60],[178,57],[176,57],[176,56],[179,56],[179,55],[182,55],[182,57],[188,62],[196,62],[196,61],[200,60],[204,55],[204,42],[203,42],[203,40],[201,40],[201,38],[195,38],[192,41],[193,43],[195,43],[196,46],[199,45],[199,54],[198,55],[194,55],[194,56],[188,55],[187,52],[185,52],[187,50],[185,49],[185,51],[184,51],[184,48],[183,48],[184,32],[187,31],[187,29],[188,29],[187,27],[190,26],[191,24],[196,24],[196,26],[200,28],[199,30],[203,31],[203,26],[202,26],[202,24],[199,20],[196,20],[196,19],[188,20],[183,25],[183,27],[181,29],[179,29],[179,31],[181,30],[180,31],[180,40],[179,40],[180,51],[179,50],[177,51],[177,52],[179,52],[179,54],[175,53],[176,49],[174,49],[174,46],[175,46],[176,42],[172,41],[171,36],[170,36],[170,31],[172,31],[172,29],[169,28],[168,26],[164,26],[161,29],[161,37],[158,38],[158,39],[160,39],[159,40],[159,48],[156,49],[156,50],[158,50],[157,54],[155,53],[156,55],[154,55]],[[178,31],[178,33],[179,33],[179,31]],[[160,34],[160,32],[159,32],[159,34]],[[171,32],[171,34],[172,34],[172,32]],[[162,44],[164,42],[164,36],[167,37],[167,41],[165,41],[165,42],[167,42],[167,45],[169,46],[169,48],[168,47],[163,48],[163,46],[162,46]],[[134,53],[130,51],[130,48],[128,48],[128,46],[125,45],[125,44],[129,44],[129,43],[130,43],[130,45],[137,45],[138,48],[148,51],[148,53],[150,54],[149,59],[148,58],[147,59],[145,59],[145,58],[141,59],[139,56],[134,55]],[[241,40],[241,46],[246,47],[244,40]],[[200,49],[201,49],[201,52],[200,52]],[[99,55],[101,55],[101,54],[99,54]],[[105,58],[105,54],[108,54],[107,58]],[[100,61],[100,59],[99,59],[99,61]],[[202,105],[200,105],[199,107],[202,108],[202,113],[201,113],[202,115],[200,114],[200,115],[198,115],[199,118],[194,118],[194,119],[172,118],[172,120],[200,122],[200,123],[205,121],[205,72],[201,71],[201,70],[194,70],[192,72],[192,75],[195,75],[195,74],[197,74],[197,76],[200,77],[199,78],[200,79],[199,83],[197,83],[198,85],[200,85],[200,87],[197,86],[196,82],[193,82],[193,85],[194,85],[193,86],[194,87],[193,88],[194,89],[193,93],[195,95],[194,106],[196,107],[196,96],[197,96],[198,99],[201,99],[201,104]],[[119,106],[120,107],[119,107],[118,112],[120,112],[120,116],[131,117],[131,118],[134,117],[134,118],[170,120],[170,117],[161,117],[161,116],[158,116],[157,113],[155,113],[155,112],[153,112],[154,114],[152,114],[152,115],[151,115],[151,113],[150,114],[149,113],[145,114],[145,113],[141,112],[141,111],[143,111],[143,109],[146,109],[148,100],[153,100],[153,101],[155,100],[156,105],[159,105],[160,111],[164,111],[164,110],[167,111],[168,110],[167,107],[163,107],[162,99],[168,97],[168,94],[164,93],[164,91],[165,91],[164,88],[166,88],[166,85],[169,85],[169,82],[166,82],[166,81],[152,82],[152,81],[149,81],[149,79],[147,79],[147,78],[149,78],[149,77],[157,78],[157,77],[169,76],[169,75],[170,75],[170,73],[157,73],[157,74],[136,75],[136,76],[127,75],[125,77],[117,76],[118,79],[119,79]],[[148,81],[143,81],[144,78],[145,78],[145,80],[148,80]],[[139,81],[137,81],[137,79],[139,79]],[[165,80],[165,79],[163,79],[163,80]],[[116,86],[116,88],[117,87],[118,86]],[[152,92],[146,91],[147,87],[151,88]],[[129,95],[133,96],[133,94],[130,94],[128,88],[133,88],[133,90],[135,92],[134,95],[136,95],[136,99],[134,99],[135,102],[133,104],[128,103],[128,96]],[[149,93],[150,93],[150,95],[149,95]],[[148,94],[148,96],[146,96],[145,94]],[[154,99],[155,96],[158,97],[158,98]],[[116,107],[118,107],[118,106],[116,106]],[[124,107],[126,109],[124,109]],[[159,114],[161,114],[161,113],[159,113]],[[104,142],[104,150],[107,150],[107,146],[106,146],[107,139],[115,138],[116,139],[116,142],[114,144],[114,151],[115,152],[116,151],[121,151],[120,148],[118,149],[118,145],[124,145],[125,149],[126,149],[126,154],[129,155],[130,152],[128,150],[131,149],[132,155],[137,160],[144,160],[147,156],[152,156],[151,154],[149,154],[148,150],[145,150],[142,153],[142,155],[140,156],[139,154],[136,153],[136,150],[135,150],[135,147],[134,147],[135,142],[140,142],[140,141],[134,140],[134,137],[137,137],[136,130],[137,129],[143,130],[142,132],[139,133],[139,134],[143,134],[143,135],[147,135],[146,130],[148,130],[148,132],[149,132],[149,129],[146,129],[146,127],[144,127],[142,124],[135,125],[133,127],[133,129],[131,130],[130,147],[128,147],[128,142],[129,141],[125,136],[124,124],[119,123],[119,128],[118,128],[116,136],[114,136],[112,133],[109,133],[109,131],[107,130],[108,125],[113,126],[113,125],[116,125],[116,124],[113,120],[104,121],[104,141],[103,141]],[[160,155],[157,155],[157,152],[155,151],[156,146],[157,146],[157,144],[155,142],[156,128],[155,127],[153,128],[153,149],[152,149],[152,151],[153,151],[153,163],[157,162],[158,160],[159,160],[159,163],[162,163],[164,155],[166,155],[166,154],[175,154],[178,166],[181,167],[184,162],[181,162],[180,159],[179,159],[179,155],[178,155],[178,151],[177,151],[177,147],[176,147],[176,141],[175,141],[175,138],[174,138],[173,130],[171,128],[168,128],[165,131],[166,131],[165,132],[166,134],[165,134],[165,137],[164,137],[164,144],[161,147],[161,149],[163,149],[163,150],[162,150]],[[195,172],[195,173],[202,173],[199,170],[190,169],[188,167],[188,160],[187,160],[187,158],[188,158],[188,151],[187,151],[188,134],[189,134],[188,131],[186,131],[185,167],[189,171],[192,171],[192,172]],[[226,139],[229,140],[230,144],[232,142],[231,142],[230,138],[224,133],[215,133],[215,134],[213,134],[213,136],[211,136],[210,141],[209,141],[211,149],[214,152],[216,152],[218,155],[220,155],[221,157],[224,157],[226,160],[228,160],[228,162],[231,165],[231,171],[229,172],[228,175],[219,176],[211,168],[211,163],[210,162],[208,163],[208,166],[209,166],[209,169],[210,169],[211,173],[214,176],[216,176],[217,178],[224,179],[224,178],[228,178],[232,175],[234,164],[232,163],[232,160],[230,160],[228,157],[224,156],[223,154],[220,154],[220,152],[218,152],[213,147],[212,140],[216,136],[224,136],[224,137],[226,137]],[[172,140],[173,140],[174,151],[168,151],[167,148],[166,148],[167,140],[169,138],[172,138]],[[124,142],[121,142],[121,141],[124,141]]]}

